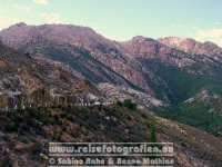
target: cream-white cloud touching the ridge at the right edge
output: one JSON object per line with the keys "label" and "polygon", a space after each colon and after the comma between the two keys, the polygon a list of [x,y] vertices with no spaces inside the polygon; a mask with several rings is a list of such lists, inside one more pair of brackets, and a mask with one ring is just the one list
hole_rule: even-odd
{"label": "cream-white cloud touching the ridge at the right edge", "polygon": [[222,29],[198,30],[195,39],[200,41],[212,41],[222,46]]}

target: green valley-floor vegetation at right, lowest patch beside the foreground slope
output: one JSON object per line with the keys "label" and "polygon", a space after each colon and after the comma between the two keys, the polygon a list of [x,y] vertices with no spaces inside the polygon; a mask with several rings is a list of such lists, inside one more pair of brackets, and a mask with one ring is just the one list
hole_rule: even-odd
{"label": "green valley-floor vegetation at right, lowest patch beside the foreground slope", "polygon": [[180,104],[167,107],[157,114],[218,136],[218,131],[222,129],[222,117],[216,112],[209,112],[212,106],[202,102]]}

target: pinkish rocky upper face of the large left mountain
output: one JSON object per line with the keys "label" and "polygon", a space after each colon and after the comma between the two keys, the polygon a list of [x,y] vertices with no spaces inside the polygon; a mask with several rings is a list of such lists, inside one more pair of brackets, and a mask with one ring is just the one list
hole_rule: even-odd
{"label": "pinkish rocky upper face of the large left mountain", "polygon": [[[46,46],[50,47],[51,43],[56,43],[60,48],[65,49],[73,57],[77,57],[78,53],[73,51],[72,47],[82,48],[94,59],[101,61],[104,66],[108,66],[131,82],[139,85],[144,89],[149,89],[149,85],[145,84],[145,79],[139,69],[140,65],[134,62],[132,63],[133,60],[122,53],[122,50],[120,49],[121,46],[118,42],[98,35],[90,28],[65,24],[43,24],[34,27],[19,23],[1,31],[0,39],[6,45],[13,48],[24,48],[26,51],[30,53],[43,56],[47,55],[42,52],[42,50]],[[98,67],[94,62],[84,60],[84,65],[87,68],[92,67],[90,70],[100,78],[105,78],[105,76],[98,70],[101,67]],[[121,77],[117,76],[112,71],[107,69],[103,70],[107,75],[113,76],[112,78],[117,82],[127,85]]]}

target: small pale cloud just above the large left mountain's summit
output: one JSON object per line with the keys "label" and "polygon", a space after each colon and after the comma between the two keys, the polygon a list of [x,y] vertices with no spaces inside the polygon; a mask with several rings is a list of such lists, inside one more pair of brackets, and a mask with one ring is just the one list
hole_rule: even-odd
{"label": "small pale cloud just above the large left mountain's summit", "polygon": [[57,12],[40,13],[40,17],[44,19],[48,23],[61,23],[62,20],[60,14]]}

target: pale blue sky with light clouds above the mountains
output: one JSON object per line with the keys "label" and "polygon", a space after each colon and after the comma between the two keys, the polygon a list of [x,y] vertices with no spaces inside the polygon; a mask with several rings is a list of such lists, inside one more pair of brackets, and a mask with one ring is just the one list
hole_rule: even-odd
{"label": "pale blue sky with light clouds above the mountains", "polygon": [[0,0],[0,30],[18,22],[87,26],[118,41],[173,36],[222,47],[222,0]]}

